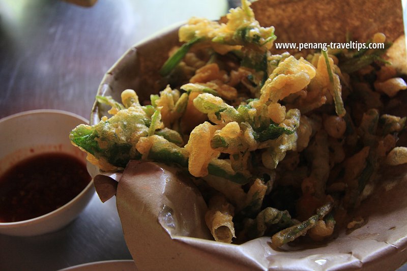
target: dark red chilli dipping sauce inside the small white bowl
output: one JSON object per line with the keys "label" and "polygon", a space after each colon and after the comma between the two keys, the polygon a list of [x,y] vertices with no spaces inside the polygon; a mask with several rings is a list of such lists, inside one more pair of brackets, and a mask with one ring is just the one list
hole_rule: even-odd
{"label": "dark red chilli dipping sauce inside the small white bowl", "polygon": [[61,207],[90,182],[85,163],[61,153],[22,160],[0,176],[0,222],[36,218]]}

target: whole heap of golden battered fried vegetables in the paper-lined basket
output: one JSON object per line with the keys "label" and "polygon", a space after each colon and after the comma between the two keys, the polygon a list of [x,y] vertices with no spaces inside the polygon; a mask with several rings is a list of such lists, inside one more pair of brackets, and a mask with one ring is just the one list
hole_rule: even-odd
{"label": "whole heap of golden battered fried vegetables in the paper-lined basket", "polygon": [[[272,54],[274,27],[261,27],[248,1],[226,17],[180,28],[185,43],[159,71],[170,84],[149,105],[132,89],[121,103],[97,96],[112,116],[78,126],[70,139],[105,171],[134,159],[189,172],[220,242],[324,240],[333,214],[344,217],[379,185],[383,164],[407,163],[407,148],[397,146],[407,116],[381,112],[399,104],[404,76],[384,65],[389,43]],[[385,41],[378,33],[366,44]]]}

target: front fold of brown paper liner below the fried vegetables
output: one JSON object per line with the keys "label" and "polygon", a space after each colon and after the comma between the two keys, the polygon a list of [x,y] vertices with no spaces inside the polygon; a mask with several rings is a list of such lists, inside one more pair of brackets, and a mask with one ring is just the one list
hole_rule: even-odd
{"label": "front fold of brown paper liner below the fried vegetables", "polygon": [[385,172],[354,214],[368,219],[364,227],[341,230],[328,243],[281,250],[270,246],[270,237],[242,245],[210,240],[199,192],[163,164],[131,161],[117,186],[117,206],[128,248],[143,270],[391,270],[407,259],[406,172],[406,165]]}

